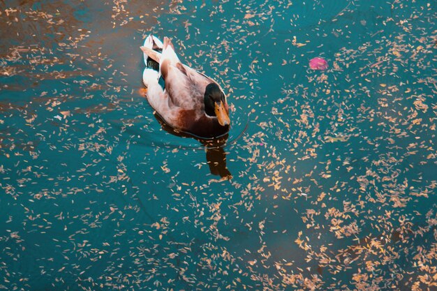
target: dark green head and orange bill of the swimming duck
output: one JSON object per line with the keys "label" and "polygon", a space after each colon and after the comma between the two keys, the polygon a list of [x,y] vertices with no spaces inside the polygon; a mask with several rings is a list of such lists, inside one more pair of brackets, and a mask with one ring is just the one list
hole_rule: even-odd
{"label": "dark green head and orange bill of the swimming duck", "polygon": [[205,113],[207,115],[217,117],[218,124],[221,126],[230,125],[228,102],[226,102],[225,94],[217,84],[208,84],[203,102],[205,103]]}

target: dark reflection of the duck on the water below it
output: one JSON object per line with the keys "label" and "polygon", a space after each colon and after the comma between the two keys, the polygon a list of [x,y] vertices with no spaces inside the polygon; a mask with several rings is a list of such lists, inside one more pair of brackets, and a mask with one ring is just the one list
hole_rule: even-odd
{"label": "dark reflection of the duck on the water below it", "polygon": [[179,137],[191,137],[195,140],[198,140],[205,147],[207,164],[209,166],[209,172],[216,176],[220,176],[224,179],[232,179],[232,174],[229,172],[228,167],[226,166],[226,153],[224,146],[226,141],[228,140],[229,134],[221,135],[220,137],[214,137],[211,139],[203,139],[201,137],[196,137],[194,135],[190,135],[188,133],[184,133],[175,128],[172,128],[160,117],[158,114],[154,114],[156,120],[158,120],[159,124],[163,130],[171,133],[172,135],[176,135]]}

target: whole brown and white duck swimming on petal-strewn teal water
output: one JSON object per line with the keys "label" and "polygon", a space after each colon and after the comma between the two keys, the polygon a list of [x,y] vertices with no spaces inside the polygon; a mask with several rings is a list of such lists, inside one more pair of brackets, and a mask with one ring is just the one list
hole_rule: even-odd
{"label": "whole brown and white duck swimming on petal-strewn teal water", "polygon": [[[161,43],[148,36],[141,50],[145,58],[159,64],[158,71],[145,68],[142,81],[151,107],[169,126],[198,137],[218,137],[229,131],[229,107],[223,90],[210,77],[182,64],[170,38]],[[160,76],[165,89],[158,83]]]}

